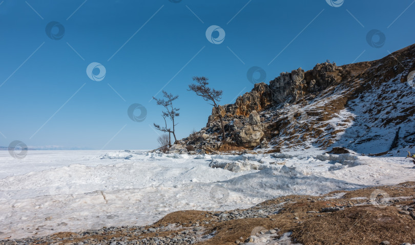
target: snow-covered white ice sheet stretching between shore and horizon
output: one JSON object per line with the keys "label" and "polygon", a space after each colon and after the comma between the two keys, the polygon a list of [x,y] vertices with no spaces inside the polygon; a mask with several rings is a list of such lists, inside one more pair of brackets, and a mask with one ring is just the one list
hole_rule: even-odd
{"label": "snow-covered white ice sheet stretching between shore and horizon", "polygon": [[413,164],[404,158],[317,151],[29,151],[20,160],[0,151],[0,162],[0,238],[140,226],[177,210],[248,208],[281,195],[318,195],[415,179]]}

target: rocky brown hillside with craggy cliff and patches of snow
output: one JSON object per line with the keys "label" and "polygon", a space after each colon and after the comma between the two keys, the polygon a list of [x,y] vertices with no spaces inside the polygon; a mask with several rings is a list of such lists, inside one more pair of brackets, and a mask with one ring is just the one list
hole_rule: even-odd
{"label": "rocky brown hillside with craggy cliff and patches of snow", "polygon": [[407,81],[414,62],[415,44],[379,60],[281,73],[221,106],[224,142],[213,110],[171,152],[343,147],[402,156],[415,151],[415,87]]}

